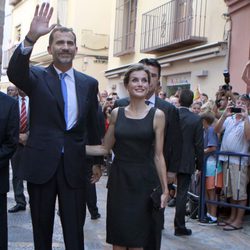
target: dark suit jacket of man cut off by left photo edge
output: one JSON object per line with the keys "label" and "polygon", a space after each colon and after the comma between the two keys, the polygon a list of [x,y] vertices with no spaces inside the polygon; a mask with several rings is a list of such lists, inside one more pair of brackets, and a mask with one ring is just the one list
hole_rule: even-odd
{"label": "dark suit jacket of man cut off by left photo edge", "polygon": [[9,159],[19,135],[18,102],[0,92],[0,193],[9,191]]}

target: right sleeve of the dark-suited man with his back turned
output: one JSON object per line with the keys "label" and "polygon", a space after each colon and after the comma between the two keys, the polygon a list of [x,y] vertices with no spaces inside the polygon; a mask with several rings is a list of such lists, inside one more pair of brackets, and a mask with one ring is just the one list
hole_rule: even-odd
{"label": "right sleeve of the dark-suited man with his back turned", "polygon": [[196,131],[195,131],[195,156],[196,156],[196,168],[202,170],[203,157],[204,157],[204,139],[203,139],[203,126],[201,119],[199,119]]}

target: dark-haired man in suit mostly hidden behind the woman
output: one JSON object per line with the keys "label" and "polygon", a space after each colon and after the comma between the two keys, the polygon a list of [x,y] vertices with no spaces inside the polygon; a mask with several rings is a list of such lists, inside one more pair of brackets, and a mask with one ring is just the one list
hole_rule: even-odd
{"label": "dark-haired man in suit mostly hidden behind the woman", "polygon": [[[181,156],[181,134],[178,110],[170,103],[160,99],[156,92],[159,87],[159,80],[161,75],[161,65],[156,59],[142,59],[139,61],[147,65],[150,74],[150,88],[147,94],[147,103],[152,107],[161,109],[165,113],[166,128],[164,140],[164,158],[167,165],[168,172],[176,172],[180,162]],[[114,107],[127,106],[129,104],[128,98],[119,99],[115,102]],[[156,186],[159,185],[159,180],[156,176]],[[161,231],[164,224],[164,210],[153,211],[153,226],[150,234],[149,243],[145,250],[157,250],[161,246]]]}

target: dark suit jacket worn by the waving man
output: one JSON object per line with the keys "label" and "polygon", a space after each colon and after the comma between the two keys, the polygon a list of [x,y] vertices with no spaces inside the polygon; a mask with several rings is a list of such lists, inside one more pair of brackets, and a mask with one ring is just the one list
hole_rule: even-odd
{"label": "dark suit jacket worn by the waving man", "polygon": [[20,179],[46,183],[56,172],[64,150],[64,172],[73,188],[85,186],[85,133],[88,144],[100,144],[97,122],[98,82],[74,70],[78,103],[76,124],[66,130],[64,101],[58,74],[53,65],[29,67],[30,54],[15,50],[8,67],[8,76],[22,89],[30,101],[30,133],[23,150]]}

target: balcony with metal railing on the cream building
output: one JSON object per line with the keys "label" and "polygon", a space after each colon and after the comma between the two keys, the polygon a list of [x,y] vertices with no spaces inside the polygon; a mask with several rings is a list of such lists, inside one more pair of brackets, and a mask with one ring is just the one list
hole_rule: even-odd
{"label": "balcony with metal railing on the cream building", "polygon": [[206,42],[207,0],[170,0],[142,15],[141,52],[155,53]]}

